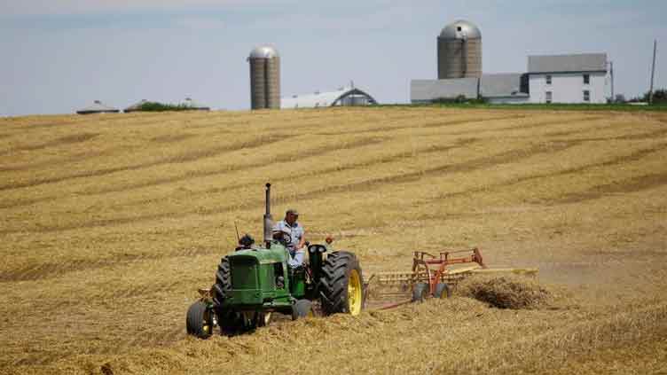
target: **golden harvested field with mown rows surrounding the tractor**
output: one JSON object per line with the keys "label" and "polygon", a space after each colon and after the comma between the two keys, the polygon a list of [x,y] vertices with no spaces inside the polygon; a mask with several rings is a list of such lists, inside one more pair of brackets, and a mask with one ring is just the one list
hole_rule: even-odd
{"label": "golden harvested field with mown rows surrounding the tractor", "polygon": [[[664,373],[666,124],[429,107],[0,119],[0,373]],[[548,301],[496,309],[461,288],[186,337],[234,221],[261,232],[268,181],[274,213],[298,208],[365,276],[479,246],[539,285],[473,286]]]}

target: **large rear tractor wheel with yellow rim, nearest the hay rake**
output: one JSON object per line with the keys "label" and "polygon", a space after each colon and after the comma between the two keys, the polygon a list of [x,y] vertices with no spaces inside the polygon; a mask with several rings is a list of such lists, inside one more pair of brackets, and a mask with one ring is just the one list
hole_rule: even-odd
{"label": "large rear tractor wheel with yellow rim, nearest the hay rake", "polygon": [[[357,298],[360,301],[349,301],[348,285],[353,274],[356,274],[357,277],[360,291]],[[355,254],[342,251],[328,254],[322,266],[322,275],[319,291],[323,294],[322,312],[325,316],[337,313],[357,315],[363,309],[364,277]]]}

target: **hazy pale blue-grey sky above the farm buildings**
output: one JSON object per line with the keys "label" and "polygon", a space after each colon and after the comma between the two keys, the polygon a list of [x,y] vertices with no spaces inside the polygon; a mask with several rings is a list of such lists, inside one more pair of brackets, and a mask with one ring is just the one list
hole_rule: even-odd
{"label": "hazy pale blue-grey sky above the farm buildings", "polygon": [[[664,0],[0,0],[0,116],[124,108],[186,96],[250,106],[247,54],[271,43],[282,95],[354,80],[381,103],[436,78],[436,36],[458,19],[482,30],[485,73],[523,72],[529,54],[607,52],[616,92],[667,86]],[[663,43],[663,44],[660,44]]]}

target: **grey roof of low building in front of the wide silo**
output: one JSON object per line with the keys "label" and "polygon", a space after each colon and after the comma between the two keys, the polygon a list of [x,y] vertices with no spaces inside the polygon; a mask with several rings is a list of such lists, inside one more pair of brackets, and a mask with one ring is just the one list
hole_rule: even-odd
{"label": "grey roof of low building in front of the wide silo", "polygon": [[410,99],[412,101],[431,101],[438,98],[477,98],[479,78],[455,78],[449,80],[412,80]]}

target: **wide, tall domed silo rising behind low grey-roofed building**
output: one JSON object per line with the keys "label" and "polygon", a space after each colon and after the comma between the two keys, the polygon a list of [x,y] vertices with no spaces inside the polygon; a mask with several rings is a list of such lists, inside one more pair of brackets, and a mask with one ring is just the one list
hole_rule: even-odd
{"label": "wide, tall domed silo rising behind low grey-roofed building", "polygon": [[443,28],[437,38],[438,79],[482,77],[482,33],[466,20]]}

